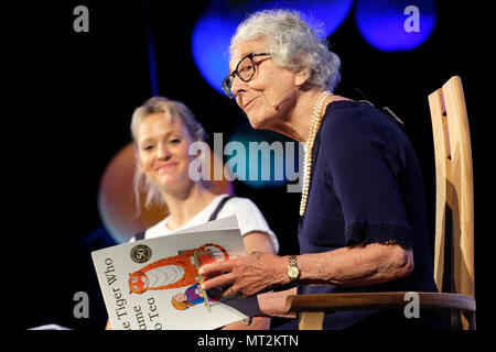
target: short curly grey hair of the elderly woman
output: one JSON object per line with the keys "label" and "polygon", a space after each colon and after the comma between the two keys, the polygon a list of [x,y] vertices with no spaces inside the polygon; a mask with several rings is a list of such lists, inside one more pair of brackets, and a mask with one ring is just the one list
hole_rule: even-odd
{"label": "short curly grey hair of the elderly woman", "polygon": [[339,57],[316,24],[295,10],[263,10],[241,22],[231,38],[229,52],[246,41],[265,38],[267,51],[281,67],[310,70],[309,84],[333,91],[341,80]]}

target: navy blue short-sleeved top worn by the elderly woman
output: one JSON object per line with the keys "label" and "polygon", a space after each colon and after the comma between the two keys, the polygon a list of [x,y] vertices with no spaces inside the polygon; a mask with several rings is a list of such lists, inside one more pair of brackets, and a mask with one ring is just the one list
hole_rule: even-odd
{"label": "navy blue short-sleeved top worn by the elderly woman", "polygon": [[[414,261],[410,275],[389,283],[300,285],[301,294],[436,292],[416,153],[401,125],[366,102],[342,100],[327,106],[315,136],[310,194],[298,233],[301,254],[393,242],[412,248]],[[344,329],[374,314],[326,315],[324,328]]]}

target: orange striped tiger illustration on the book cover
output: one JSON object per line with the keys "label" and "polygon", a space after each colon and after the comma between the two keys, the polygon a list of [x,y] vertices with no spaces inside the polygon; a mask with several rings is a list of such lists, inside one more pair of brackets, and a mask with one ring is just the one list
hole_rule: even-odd
{"label": "orange striped tiger illustration on the book cover", "polygon": [[134,273],[129,273],[130,294],[141,295],[149,289],[179,288],[197,283],[200,276],[195,265],[195,252],[200,266],[229,258],[229,253],[215,243],[180,251],[179,255],[158,260]]}

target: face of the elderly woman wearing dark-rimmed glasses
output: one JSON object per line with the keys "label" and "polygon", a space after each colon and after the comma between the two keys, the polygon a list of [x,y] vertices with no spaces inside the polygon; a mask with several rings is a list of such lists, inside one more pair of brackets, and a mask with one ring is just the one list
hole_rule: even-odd
{"label": "face of the elderly woman wearing dark-rimmed glasses", "polygon": [[[267,53],[265,38],[238,43],[233,51],[229,73],[236,69],[241,58],[251,53]],[[254,77],[249,81],[242,81],[235,76],[231,91],[255,129],[272,129],[282,123],[281,117],[294,106],[299,77],[277,65],[270,56],[256,56],[254,63]]]}

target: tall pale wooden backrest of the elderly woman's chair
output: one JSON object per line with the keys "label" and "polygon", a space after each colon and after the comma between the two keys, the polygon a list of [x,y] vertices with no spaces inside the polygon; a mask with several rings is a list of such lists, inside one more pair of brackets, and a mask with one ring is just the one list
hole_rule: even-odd
{"label": "tall pale wooden backrest of the elderly woman's chair", "polygon": [[[461,78],[429,95],[429,106],[436,179],[434,279],[440,292],[474,296],[472,147]],[[474,328],[475,315],[462,323]]]}

